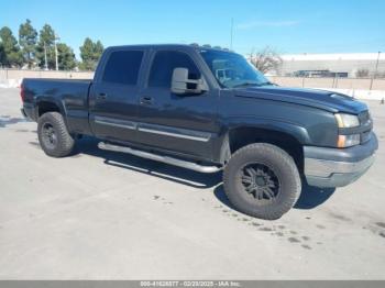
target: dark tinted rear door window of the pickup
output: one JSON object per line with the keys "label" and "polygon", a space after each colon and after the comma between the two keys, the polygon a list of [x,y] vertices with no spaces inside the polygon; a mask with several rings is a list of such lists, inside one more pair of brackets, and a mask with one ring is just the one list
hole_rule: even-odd
{"label": "dark tinted rear door window of the pickup", "polygon": [[143,51],[117,51],[110,54],[105,67],[105,82],[136,85]]}

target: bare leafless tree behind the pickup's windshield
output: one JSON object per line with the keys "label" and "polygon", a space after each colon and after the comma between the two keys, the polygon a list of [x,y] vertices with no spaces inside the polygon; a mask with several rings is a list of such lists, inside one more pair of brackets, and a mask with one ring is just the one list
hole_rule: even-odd
{"label": "bare leafless tree behind the pickup's windshield", "polygon": [[258,52],[252,52],[250,54],[250,62],[262,73],[277,71],[283,60],[271,47],[266,46],[265,48]]}

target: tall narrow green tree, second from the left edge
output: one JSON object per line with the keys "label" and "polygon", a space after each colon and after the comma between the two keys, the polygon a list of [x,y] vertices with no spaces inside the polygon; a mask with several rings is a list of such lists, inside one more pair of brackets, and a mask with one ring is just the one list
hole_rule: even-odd
{"label": "tall narrow green tree, second from the left edge", "polygon": [[36,51],[37,32],[32,26],[31,20],[26,20],[19,27],[19,44],[22,47],[23,56],[29,68],[34,65]]}

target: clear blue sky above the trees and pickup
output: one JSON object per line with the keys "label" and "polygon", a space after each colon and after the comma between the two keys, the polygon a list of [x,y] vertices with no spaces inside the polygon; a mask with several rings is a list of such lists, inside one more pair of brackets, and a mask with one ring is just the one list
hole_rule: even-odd
{"label": "clear blue sky above the trees and pickup", "polygon": [[50,23],[78,55],[86,36],[105,46],[199,43],[250,53],[385,51],[384,0],[0,0],[0,26]]}

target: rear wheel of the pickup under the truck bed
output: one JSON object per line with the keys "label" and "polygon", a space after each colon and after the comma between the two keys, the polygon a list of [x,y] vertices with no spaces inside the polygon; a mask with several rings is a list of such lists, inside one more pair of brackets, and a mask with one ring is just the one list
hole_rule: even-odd
{"label": "rear wheel of the pickup under the truck bed", "polygon": [[75,141],[61,113],[44,113],[37,121],[37,135],[41,147],[48,156],[64,157],[74,148]]}

